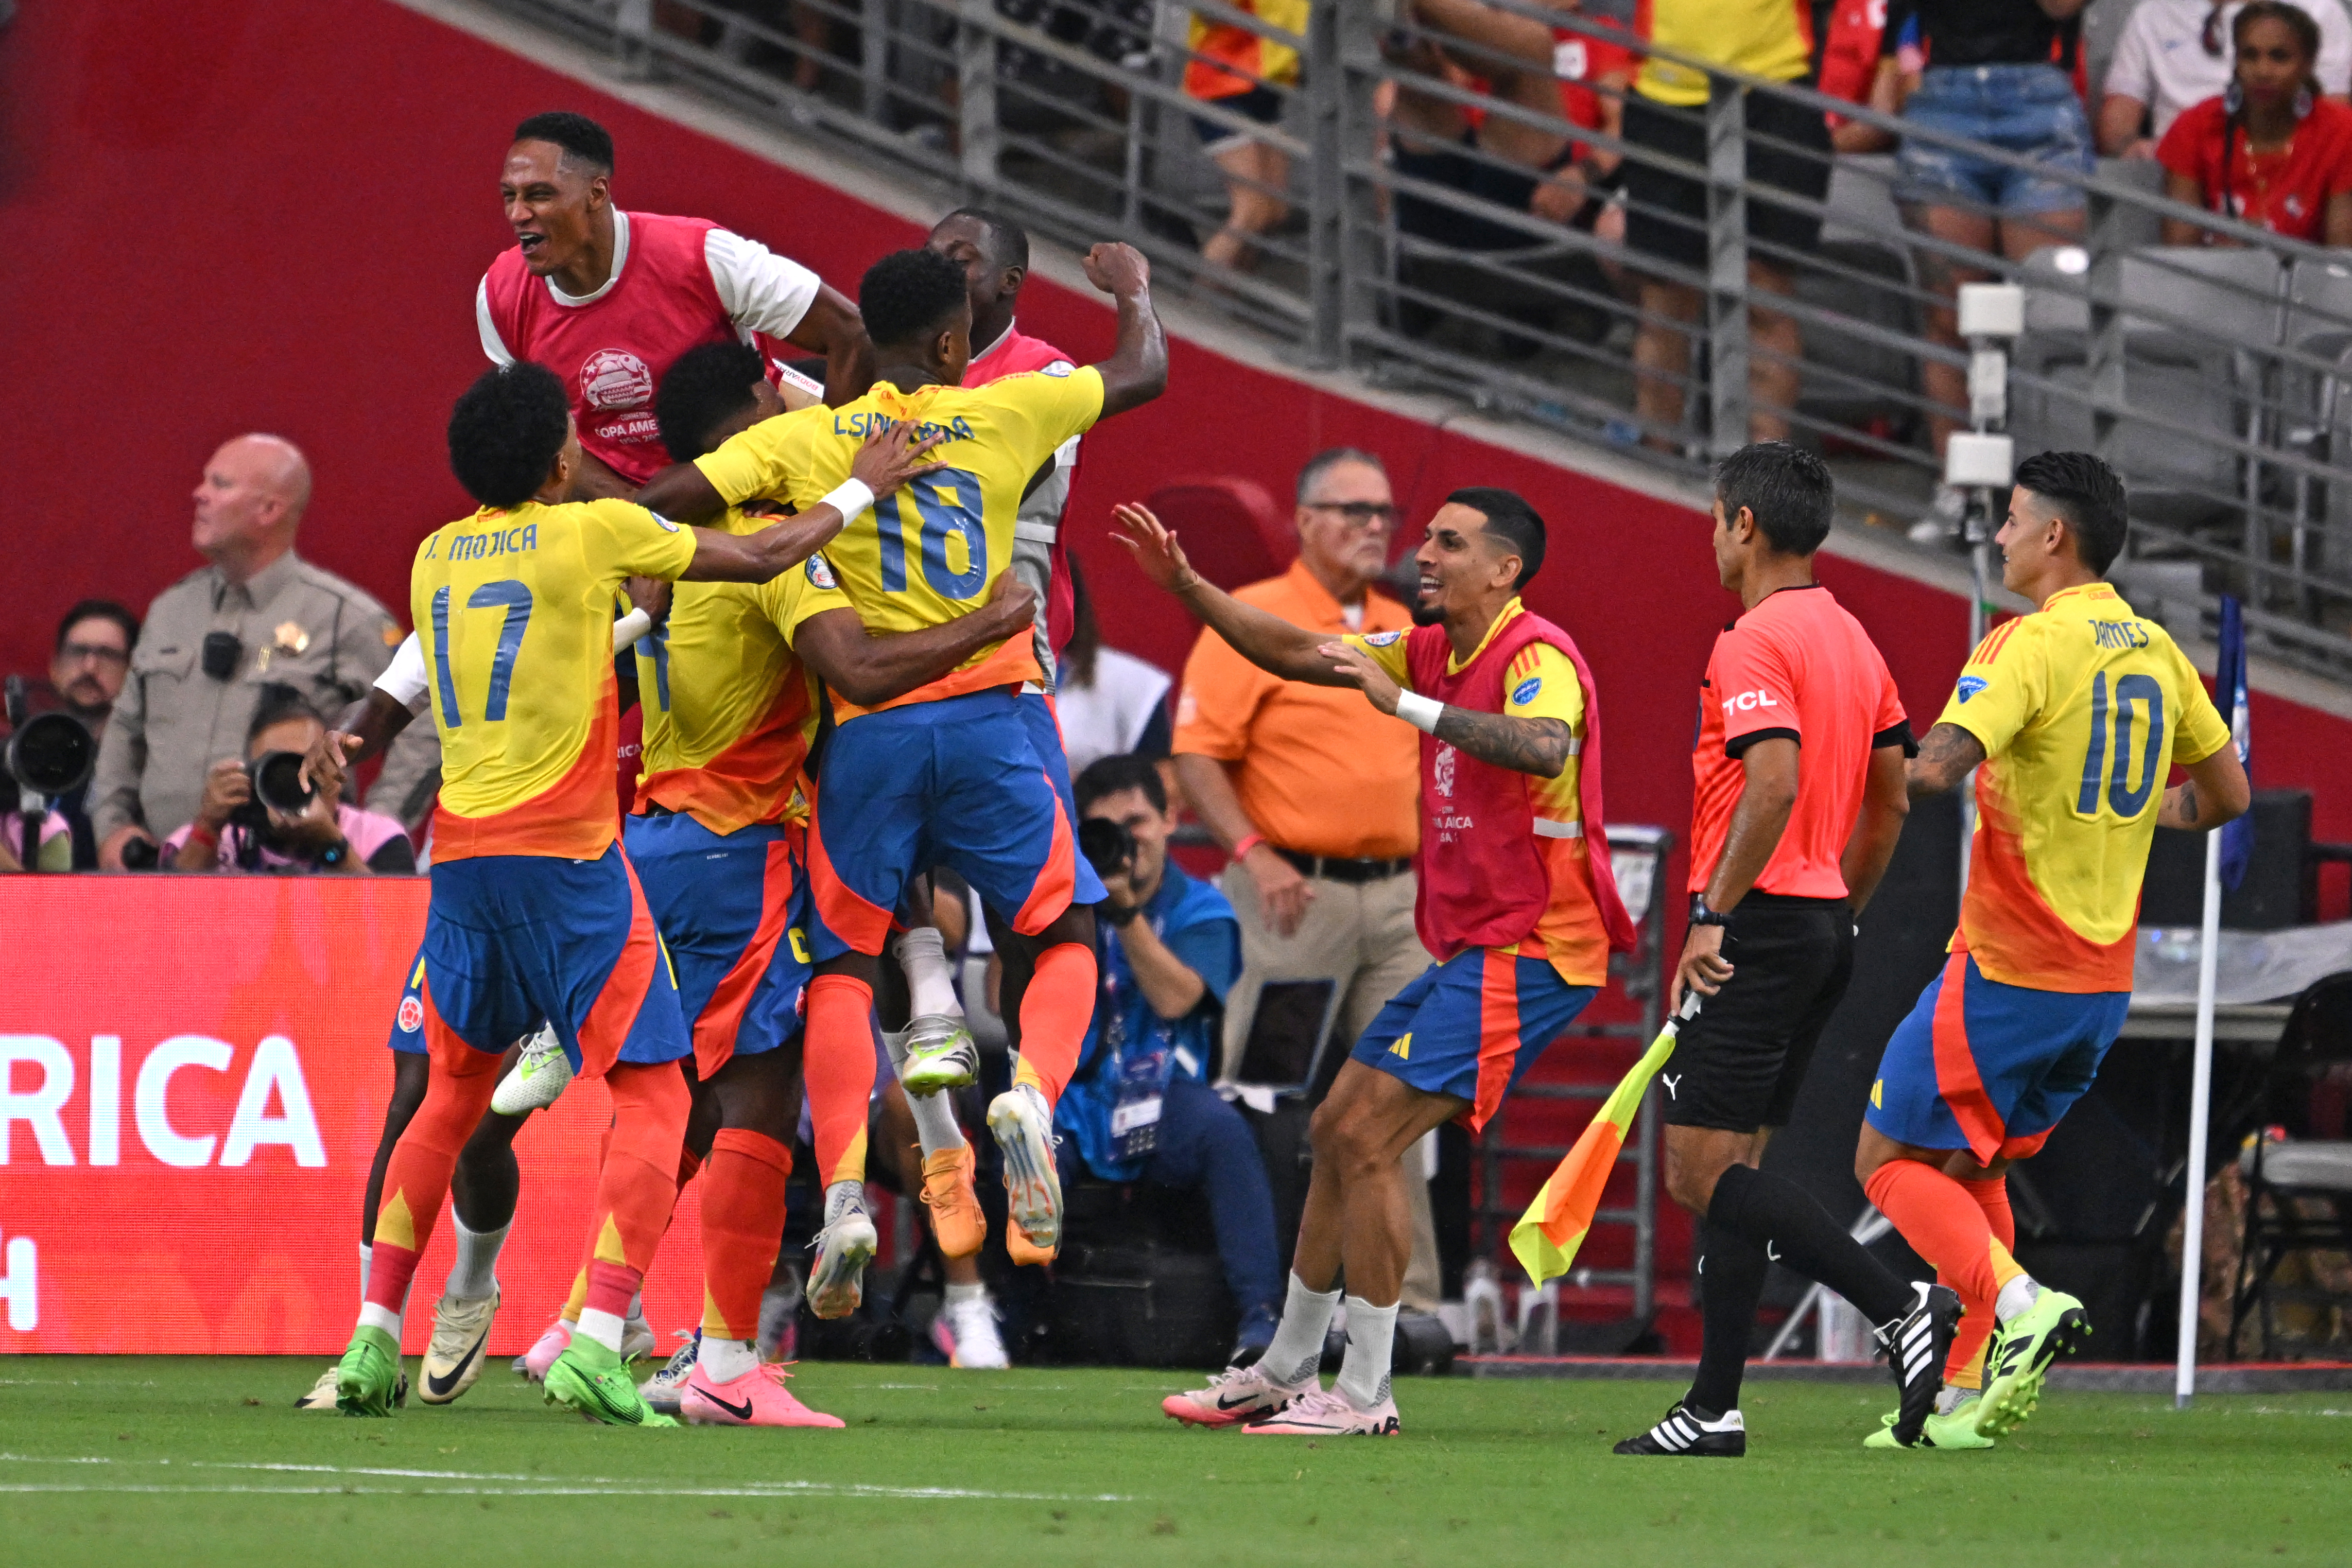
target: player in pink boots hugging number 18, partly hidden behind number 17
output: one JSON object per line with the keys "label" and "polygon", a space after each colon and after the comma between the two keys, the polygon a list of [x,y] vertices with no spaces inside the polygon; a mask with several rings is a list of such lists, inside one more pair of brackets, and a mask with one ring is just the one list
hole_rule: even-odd
{"label": "player in pink boots hugging number 18, partly hidden behind number 17", "polygon": [[[680,355],[654,400],[670,456],[691,461],[781,414],[762,369],[757,350],[741,343]],[[764,520],[729,508],[713,527],[753,534]],[[689,1422],[840,1425],[793,1399],[783,1368],[762,1366],[757,1352],[760,1295],[783,1234],[800,1079],[807,1074],[818,1164],[863,1168],[875,1063],[866,1039],[847,1041],[847,1072],[800,1051],[809,983],[802,769],[821,712],[816,682],[851,703],[887,703],[1021,635],[1033,614],[1035,595],[1004,574],[976,614],[873,637],[833,585],[826,557],[811,555],[769,583],[680,585],[663,623],[637,642],[644,776],[628,818],[628,858],[677,969],[703,1107],[696,1126],[717,1128],[687,1138],[689,1164],[708,1154],[703,1331],[691,1373],[675,1387]],[[818,1316],[858,1305],[873,1251],[863,1211],[828,1227],[809,1274]]]}

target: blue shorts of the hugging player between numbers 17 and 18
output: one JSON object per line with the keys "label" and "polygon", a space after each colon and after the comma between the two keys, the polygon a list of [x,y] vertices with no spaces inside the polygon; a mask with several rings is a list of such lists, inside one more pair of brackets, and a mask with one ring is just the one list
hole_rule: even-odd
{"label": "blue shorts of the hugging player between numbers 17 and 18", "polygon": [[800,827],[717,835],[687,813],[628,818],[628,858],[677,973],[694,1074],[800,1034],[809,990],[809,879]]}

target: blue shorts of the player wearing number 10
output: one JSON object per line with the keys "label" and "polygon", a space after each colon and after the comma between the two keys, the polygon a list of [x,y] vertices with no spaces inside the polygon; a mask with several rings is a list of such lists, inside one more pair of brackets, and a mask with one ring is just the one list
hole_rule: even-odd
{"label": "blue shorts of the player wearing number 10", "polygon": [[2131,992],[2004,985],[1955,952],[1886,1041],[1863,1119],[1978,1164],[2037,1154],[2091,1088],[2129,1006]]}

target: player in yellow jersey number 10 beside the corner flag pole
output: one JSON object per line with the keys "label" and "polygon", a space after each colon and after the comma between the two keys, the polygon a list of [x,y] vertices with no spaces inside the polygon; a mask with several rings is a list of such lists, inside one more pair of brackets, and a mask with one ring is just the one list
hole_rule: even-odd
{"label": "player in yellow jersey number 10 beside the corner flag pole", "polygon": [[[1912,797],[1978,769],[1969,893],[1952,959],[1886,1041],[1853,1168],[1966,1307],[1931,1448],[1985,1448],[2013,1429],[2049,1363],[2091,1331],[2079,1300],[2011,1258],[2004,1171],[2091,1088],[2124,1027],[2150,837],[2209,832],[2249,802],[2197,670],[2100,581],[2124,520],[2124,484],[2098,458],[2018,463],[1994,543],[2002,585],[2034,614],[1976,644],[1910,762]],[[2173,764],[2187,780],[2166,790]]]}

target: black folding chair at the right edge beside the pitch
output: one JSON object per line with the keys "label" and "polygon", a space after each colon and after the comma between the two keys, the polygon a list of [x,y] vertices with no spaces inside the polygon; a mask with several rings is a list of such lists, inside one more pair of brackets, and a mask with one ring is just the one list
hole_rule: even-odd
{"label": "black folding chair at the right edge beside the pitch", "polygon": [[[2296,997],[2286,1032],[2279,1037],[2279,1053],[2270,1065],[2270,1114],[2305,1133],[2321,1131],[2314,1126],[2319,1121],[2314,1091],[2340,1081],[2347,1067],[2352,1067],[2352,973],[2338,973]],[[2340,1119],[2340,1091],[2333,1098]],[[2237,1356],[2237,1335],[2249,1314],[2258,1314],[2263,1324],[2263,1359],[2277,1354],[2274,1302],[2321,1309],[2352,1305],[2340,1295],[2281,1286],[2274,1279],[2291,1253],[2352,1248],[2352,1140],[2340,1138],[2343,1126],[2331,1131],[2338,1138],[2296,1138],[2277,1145],[2258,1135],[2239,1161],[2246,1175],[2246,1234],[2232,1281],[2230,1356]]]}

